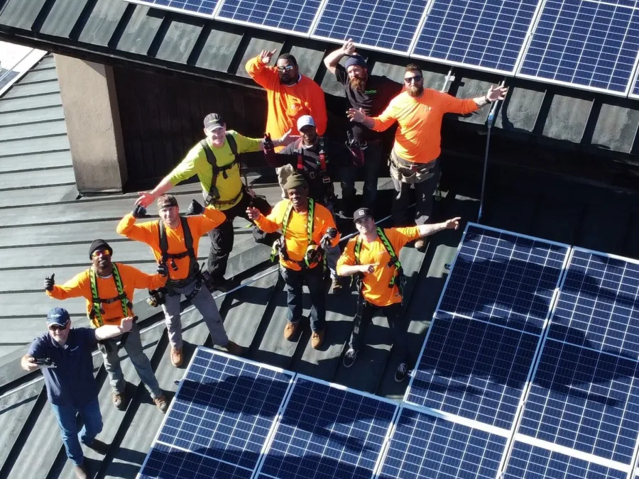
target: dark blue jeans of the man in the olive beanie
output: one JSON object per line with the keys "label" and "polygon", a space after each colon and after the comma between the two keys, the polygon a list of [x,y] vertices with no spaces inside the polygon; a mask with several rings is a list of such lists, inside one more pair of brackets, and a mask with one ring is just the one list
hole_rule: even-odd
{"label": "dark blue jeans of the man in the olive beanie", "polygon": [[311,299],[310,324],[312,331],[318,332],[326,325],[326,287],[324,268],[304,268],[300,271],[280,266],[280,274],[286,283],[288,322],[296,324],[302,319],[302,285],[306,283]]}

